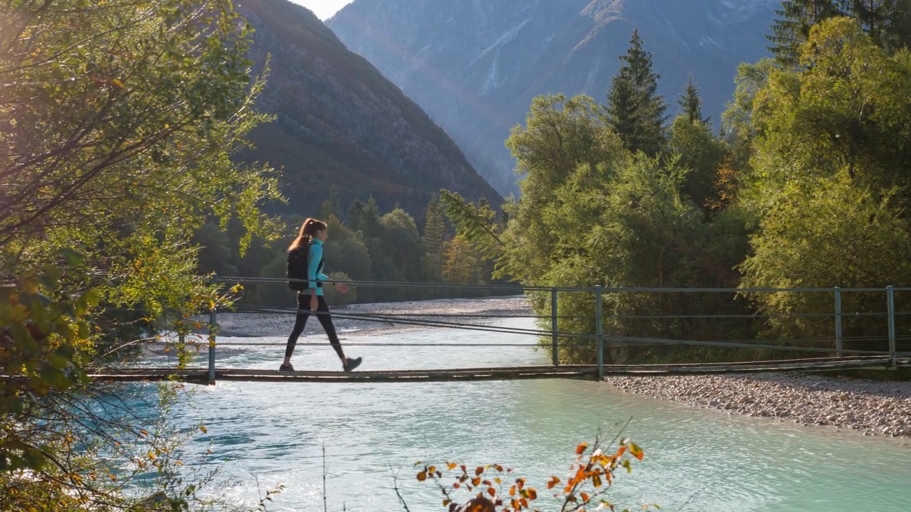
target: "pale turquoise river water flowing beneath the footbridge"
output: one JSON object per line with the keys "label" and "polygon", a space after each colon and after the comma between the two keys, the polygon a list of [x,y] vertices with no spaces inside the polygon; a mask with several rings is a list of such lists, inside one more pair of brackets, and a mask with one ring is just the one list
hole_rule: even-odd
{"label": "pale turquoise river water flowing beneath the footbridge", "polygon": [[[530,327],[527,321],[503,325]],[[456,347],[386,346],[455,343]],[[277,367],[283,338],[220,338],[218,364]],[[506,333],[455,330],[350,334],[348,352],[363,369],[420,369],[547,364],[529,343]],[[231,346],[238,343],[241,346]],[[252,346],[253,343],[275,343]],[[302,338],[293,363],[339,366],[325,338]],[[343,342],[344,343],[344,342]],[[135,384],[135,392],[154,387]],[[607,384],[568,380],[435,384],[272,384],[220,382],[181,399],[173,419],[201,422],[190,453],[213,452],[210,465],[230,480],[228,497],[249,504],[279,484],[270,510],[403,510],[393,476],[412,512],[445,510],[438,489],[415,481],[415,461],[451,460],[512,467],[544,488],[565,476],[579,442],[599,428],[645,450],[609,499],[631,509],[645,503],[693,512],[911,511],[911,442],[728,415],[623,394]],[[439,466],[439,465],[438,465]],[[537,507],[548,510],[542,492]]]}

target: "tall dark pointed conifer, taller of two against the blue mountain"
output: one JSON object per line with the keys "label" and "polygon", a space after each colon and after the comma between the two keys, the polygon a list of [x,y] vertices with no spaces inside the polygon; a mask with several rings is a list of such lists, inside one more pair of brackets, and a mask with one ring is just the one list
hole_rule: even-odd
{"label": "tall dark pointed conifer, taller of two against the blue mountain", "polygon": [[638,30],[633,30],[630,49],[608,91],[608,123],[630,151],[653,157],[664,145],[668,106],[657,94],[660,76],[651,69],[651,54],[642,49]]}

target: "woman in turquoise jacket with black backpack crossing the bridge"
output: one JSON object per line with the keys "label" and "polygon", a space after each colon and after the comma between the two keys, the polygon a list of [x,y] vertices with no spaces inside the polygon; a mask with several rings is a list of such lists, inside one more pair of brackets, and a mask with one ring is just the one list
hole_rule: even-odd
{"label": "woman in turquoise jacket with black backpack crossing the bridge", "polygon": [[[322,283],[329,282],[329,277],[322,273],[322,242],[326,241],[326,223],[322,220],[307,219],[301,226],[301,232],[294,239],[291,247],[288,248],[288,286],[292,290],[297,290],[297,319],[294,322],[291,336],[288,337],[288,347],[285,349],[284,362],[279,367],[280,372],[293,372],[294,367],[291,365],[291,356],[294,353],[294,345],[297,344],[297,338],[303,333],[303,328],[307,325],[307,318],[312,312],[316,312],[316,317],[322,323],[322,329],[329,336],[329,342],[333,344],[335,353],[342,360],[342,368],[345,372],[351,372],[361,364],[361,358],[345,357],[342,351],[342,343],[339,342],[338,334],[335,333],[333,319],[329,315],[329,304],[322,296]],[[348,292],[348,287],[342,283],[330,282],[339,292]]]}

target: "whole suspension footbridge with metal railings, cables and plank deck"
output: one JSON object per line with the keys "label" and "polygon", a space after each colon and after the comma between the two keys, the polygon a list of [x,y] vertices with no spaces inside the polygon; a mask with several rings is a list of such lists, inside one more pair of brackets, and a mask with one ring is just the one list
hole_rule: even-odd
{"label": "whole suspension footbridge with metal railings, cables and plank deck", "polygon": [[[245,287],[261,287],[278,290],[281,287],[287,290],[284,279],[269,278],[217,278],[218,282],[233,285],[243,284]],[[393,283],[393,282],[345,282],[353,287],[364,288],[401,288],[425,289],[434,292],[462,292],[475,294],[525,294],[537,301],[537,304],[549,306],[550,315],[533,315],[510,312],[508,314],[490,314],[486,312],[350,312],[339,309],[332,312],[333,318],[355,321],[359,323],[386,323],[396,327],[424,327],[432,330],[425,331],[426,341],[420,343],[361,343],[344,342],[350,346],[386,346],[388,350],[407,350],[409,347],[424,347],[433,350],[451,349],[456,351],[494,349],[496,347],[524,347],[544,349],[550,353],[550,364],[523,364],[514,366],[484,366],[455,368],[430,368],[430,369],[374,369],[365,364],[367,369],[354,372],[334,372],[304,370],[280,372],[275,369],[235,367],[233,364],[220,364],[220,354],[238,350],[265,349],[271,354],[270,366],[277,367],[281,360],[281,342],[220,342],[219,338],[219,313],[213,309],[209,314],[208,332],[200,333],[197,341],[188,341],[180,336],[174,341],[158,341],[148,343],[146,348],[159,346],[164,352],[170,350],[186,349],[190,346],[208,355],[205,365],[192,364],[186,367],[177,367],[173,364],[164,364],[168,360],[152,358],[151,361],[140,361],[141,364],[106,365],[97,366],[88,370],[88,375],[96,380],[112,382],[136,381],[182,381],[196,384],[215,384],[218,381],[252,381],[252,382],[320,382],[320,383],[392,383],[392,382],[469,382],[489,380],[522,380],[522,379],[581,379],[603,380],[608,375],[692,375],[692,374],[749,374],[766,372],[831,372],[844,370],[895,370],[902,366],[911,366],[911,353],[898,350],[898,343],[911,342],[911,312],[896,311],[896,293],[911,292],[911,288],[805,288],[805,289],[688,289],[688,288],[607,288],[607,287],[518,287],[514,285],[455,285],[455,284],[429,284],[429,283]],[[289,295],[289,302],[293,301],[290,292],[281,292]],[[682,297],[683,301],[675,303],[685,306],[685,312],[661,311],[649,312],[605,312],[605,297],[611,293],[634,293],[637,297],[667,297],[674,295]],[[761,313],[744,311],[742,307],[732,307],[732,303],[742,301],[744,294],[757,293],[803,293],[810,296],[831,295],[832,309],[830,312],[805,311],[789,313]],[[858,301],[858,296],[870,298],[873,295],[882,295],[884,311],[842,311],[842,296],[852,294],[852,303]],[[698,308],[691,307],[694,296],[715,297],[715,302],[702,301]],[[592,312],[589,317],[576,315],[561,315],[559,298],[564,301],[582,300],[591,303]],[[911,297],[911,295],[909,295]],[[586,302],[587,301],[587,302]],[[708,310],[706,311],[706,304]],[[569,308],[566,308],[567,310]],[[578,312],[579,308],[572,309]],[[230,312],[246,314],[287,315],[293,317],[296,309],[285,309],[248,303],[240,300],[235,303]],[[855,333],[844,335],[844,324],[856,323],[858,319],[866,319],[865,325],[876,323],[871,317],[878,317],[885,321],[882,333]],[[900,331],[896,330],[896,318],[900,319]],[[509,319],[524,319],[527,324],[537,327],[515,327],[503,324],[501,321]],[[724,339],[714,336],[712,339],[698,339],[687,336],[688,330],[705,333],[705,325],[721,323],[718,328],[723,334],[724,326],[742,323],[768,323],[788,319],[792,322],[814,323],[822,325],[829,323],[832,336],[804,337],[804,338],[755,338],[755,339]],[[664,327],[657,329],[674,336],[627,336],[618,333],[606,332],[605,326],[616,325],[622,320],[627,323],[644,323],[646,325]],[[580,323],[590,322],[594,333],[577,332]],[[697,329],[695,326],[699,326]],[[856,327],[855,325],[849,325]],[[577,329],[572,330],[571,328]],[[455,331],[475,331],[479,335],[469,343],[451,343],[440,339],[441,333]],[[608,329],[608,331],[610,328]],[[646,329],[647,330],[647,329]],[[654,329],[653,329],[654,330]],[[857,329],[852,328],[852,332]],[[484,333],[484,334],[481,334]],[[523,336],[527,343],[501,343],[496,341],[492,333],[506,333]],[[322,332],[317,332],[317,336]],[[230,339],[230,338],[229,338]],[[845,345],[849,346],[845,346]],[[320,343],[298,343],[298,346],[319,345],[329,349],[325,341]],[[594,353],[595,364],[561,364],[559,354],[561,348],[582,345]],[[648,347],[651,353],[660,353],[661,350],[670,350],[674,347],[700,347],[702,353],[715,351],[732,351],[738,354],[749,354],[751,360],[741,360],[723,363],[674,363],[674,364],[622,364],[622,353]],[[747,349],[747,350],[743,350]],[[530,351],[529,351],[530,352]],[[605,361],[605,356],[610,361]],[[141,359],[141,358],[140,358]],[[199,359],[199,358],[198,358]],[[261,358],[260,358],[261,359]],[[150,365],[151,364],[151,365]],[[195,364],[199,364],[197,361]],[[264,364],[264,363],[263,363]]]}

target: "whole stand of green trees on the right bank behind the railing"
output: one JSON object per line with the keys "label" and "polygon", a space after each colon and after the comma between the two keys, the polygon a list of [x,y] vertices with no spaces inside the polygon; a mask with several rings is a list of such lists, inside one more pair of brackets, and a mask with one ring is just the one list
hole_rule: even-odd
{"label": "whole stand of green trees on the right bank behind the railing", "polygon": [[[744,356],[649,340],[832,348],[833,292],[769,289],[836,286],[878,289],[842,295],[844,348],[885,349],[885,287],[911,284],[909,6],[794,1],[777,15],[773,57],[738,69],[717,133],[692,81],[669,117],[634,32],[603,104],[537,97],[513,129],[522,195],[503,216],[443,195],[497,278],[630,289],[604,296],[604,331],[621,339],[606,361]],[[593,294],[566,295],[560,331],[594,333]],[[908,347],[911,293],[895,301]],[[593,343],[570,342],[562,360],[594,361]]]}

